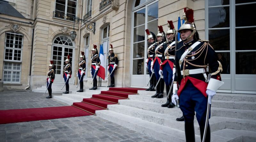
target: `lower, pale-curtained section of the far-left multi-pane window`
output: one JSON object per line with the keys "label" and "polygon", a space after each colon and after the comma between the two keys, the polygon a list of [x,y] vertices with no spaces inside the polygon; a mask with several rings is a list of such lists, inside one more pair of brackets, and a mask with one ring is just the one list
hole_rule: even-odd
{"label": "lower, pale-curtained section of the far-left multi-pane window", "polygon": [[4,82],[19,83],[21,74],[21,64],[4,62],[3,74]]}

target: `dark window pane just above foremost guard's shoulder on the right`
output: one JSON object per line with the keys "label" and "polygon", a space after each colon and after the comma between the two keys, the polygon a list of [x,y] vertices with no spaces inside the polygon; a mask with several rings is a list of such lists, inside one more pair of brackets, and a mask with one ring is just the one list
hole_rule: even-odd
{"label": "dark window pane just above foremost guard's shoulder on the right", "polygon": [[209,43],[213,49],[216,50],[229,50],[230,49],[230,34],[227,30],[209,30]]}

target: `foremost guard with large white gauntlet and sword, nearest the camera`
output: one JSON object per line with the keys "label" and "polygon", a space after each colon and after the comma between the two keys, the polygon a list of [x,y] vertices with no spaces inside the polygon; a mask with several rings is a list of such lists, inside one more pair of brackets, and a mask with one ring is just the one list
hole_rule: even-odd
{"label": "foremost guard with large white gauntlet and sword, nearest the camera", "polygon": [[[194,11],[186,10],[186,8],[184,11],[185,23],[178,31],[182,41],[177,45],[176,51],[177,76],[175,75],[174,78],[172,102],[176,105],[175,99],[180,100],[180,109],[185,119],[186,140],[193,142],[195,141],[195,111],[202,140],[206,117],[208,117],[206,116],[208,102],[211,104],[216,90],[223,84],[220,78],[222,65],[208,41],[199,40],[194,24]],[[211,77],[208,76],[209,67],[212,71]],[[179,89],[177,83],[180,85]],[[211,131],[208,123],[205,141],[210,142],[210,137]]]}

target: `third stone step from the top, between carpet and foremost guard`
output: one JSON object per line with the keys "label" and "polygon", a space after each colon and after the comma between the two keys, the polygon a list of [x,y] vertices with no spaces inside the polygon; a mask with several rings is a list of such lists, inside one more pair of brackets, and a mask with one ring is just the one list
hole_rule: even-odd
{"label": "third stone step from the top, between carpet and foremost guard", "polygon": [[175,117],[182,116],[182,112],[180,109],[161,107],[159,104],[156,104],[156,103],[136,101],[136,100],[119,100],[119,103],[121,105],[129,106],[129,107],[140,108],[140,109],[149,110],[157,113],[169,114]]}

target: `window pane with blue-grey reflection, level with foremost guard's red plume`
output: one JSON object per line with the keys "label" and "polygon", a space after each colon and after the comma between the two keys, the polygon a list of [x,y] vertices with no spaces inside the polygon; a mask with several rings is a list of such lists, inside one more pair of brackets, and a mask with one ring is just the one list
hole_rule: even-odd
{"label": "window pane with blue-grey reflection, level with foremost guard's red plume", "polygon": [[229,6],[209,8],[209,28],[229,27]]}

